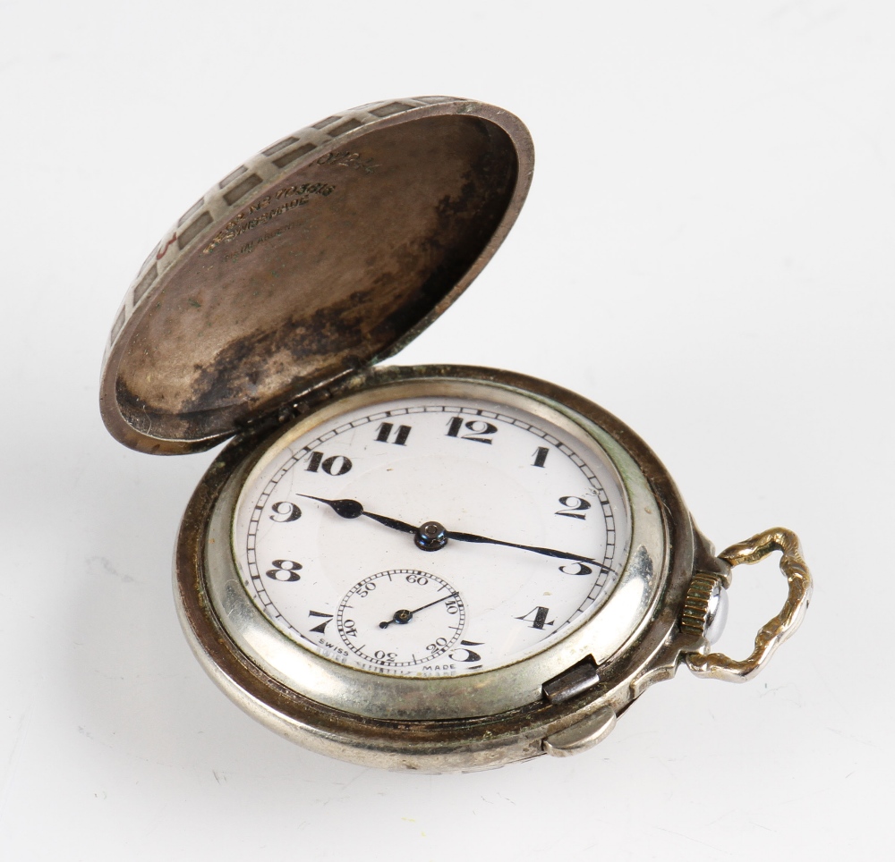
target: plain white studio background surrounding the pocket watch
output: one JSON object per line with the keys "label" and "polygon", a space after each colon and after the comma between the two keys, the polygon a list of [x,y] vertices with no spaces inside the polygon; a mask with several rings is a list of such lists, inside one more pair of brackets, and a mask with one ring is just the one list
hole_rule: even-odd
{"label": "plain white studio background surrounding the pocket watch", "polygon": [[[650,689],[599,748],[488,773],[294,748],[193,660],[170,563],[209,453],[98,417],[119,300],[243,158],[389,97],[504,106],[516,228],[396,361],[541,376],[634,427],[718,547],[816,580],[754,682]],[[895,7],[0,2],[0,858],[882,858],[891,851]],[[720,646],[780,607],[737,570]]]}

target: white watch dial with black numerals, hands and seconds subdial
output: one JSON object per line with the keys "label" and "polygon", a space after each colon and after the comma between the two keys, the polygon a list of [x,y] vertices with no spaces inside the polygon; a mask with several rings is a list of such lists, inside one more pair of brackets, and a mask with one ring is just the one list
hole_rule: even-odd
{"label": "white watch dial with black numerals, hands and seconds subdial", "polygon": [[598,612],[630,538],[616,469],[566,417],[489,388],[349,400],[268,448],[233,550],[287,638],[369,672],[474,674]]}

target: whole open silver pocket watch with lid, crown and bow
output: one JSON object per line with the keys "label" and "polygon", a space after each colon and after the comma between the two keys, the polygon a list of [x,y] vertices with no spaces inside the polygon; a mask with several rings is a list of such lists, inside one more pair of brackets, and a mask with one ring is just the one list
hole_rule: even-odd
{"label": "whole open silver pocket watch with lid, crown and bow", "polygon": [[[396,367],[522,207],[533,145],[453,97],[362,106],[228,174],[115,317],[100,404],[141,452],[234,439],[192,496],[175,595],[253,718],[362,765],[467,771],[603,739],[681,663],[746,680],[811,592],[771,529],[720,555],[650,449],[582,396]],[[712,652],[730,570],[780,551],[752,655]]]}

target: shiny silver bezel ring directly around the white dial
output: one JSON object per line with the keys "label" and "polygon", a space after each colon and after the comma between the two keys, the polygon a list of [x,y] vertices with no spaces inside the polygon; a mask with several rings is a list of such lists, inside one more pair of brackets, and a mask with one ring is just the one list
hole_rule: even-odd
{"label": "shiny silver bezel ring directly around the white dial", "polygon": [[[431,395],[489,400],[509,410],[524,410],[558,425],[586,446],[599,447],[606,452],[626,498],[626,521],[632,526],[632,534],[627,537],[626,546],[619,548],[618,579],[607,595],[562,637],[541,641],[530,651],[531,655],[520,655],[473,675],[385,676],[339,663],[289,638],[247,595],[229,540],[234,535],[234,515],[243,487],[268,461],[277,459],[284,446],[347,411],[375,408],[382,401]],[[283,429],[280,435],[265,439],[261,444],[264,452],[252,452],[226,483],[209,524],[206,587],[218,618],[234,643],[271,676],[318,703],[369,718],[402,720],[507,712],[537,701],[545,681],[587,655],[598,665],[605,663],[636,636],[658,595],[664,562],[659,507],[630,456],[601,428],[585,427],[584,419],[576,422],[560,413],[558,406],[542,396],[537,398],[493,381],[408,377],[386,384],[371,382],[361,391],[329,401]],[[630,516],[631,507],[638,513],[636,521]],[[627,545],[637,549],[637,559],[630,564]]]}

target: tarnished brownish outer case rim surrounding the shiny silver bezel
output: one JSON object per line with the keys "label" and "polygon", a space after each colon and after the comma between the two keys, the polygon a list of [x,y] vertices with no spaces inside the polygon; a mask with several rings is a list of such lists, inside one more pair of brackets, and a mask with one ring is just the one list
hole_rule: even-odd
{"label": "tarnished brownish outer case rim surrounding the shiny silver bezel", "polygon": [[[187,507],[175,553],[175,595],[193,653],[217,686],[252,718],[305,748],[362,765],[427,772],[468,771],[548,751],[561,753],[553,750],[559,749],[565,739],[557,734],[574,741],[577,731],[573,729],[584,725],[586,730],[590,724],[597,724],[599,727],[591,729],[594,735],[604,735],[615,716],[646,688],[674,675],[682,655],[704,646],[702,638],[680,630],[678,617],[695,566],[711,554],[711,545],[693,526],[668,471],[630,428],[581,395],[537,378],[464,366],[371,368],[328,393],[319,393],[303,405],[303,412],[371,386],[424,377],[498,383],[547,399],[552,406],[565,407],[614,438],[649,486],[658,503],[658,511],[652,514],[661,524],[658,545],[651,548],[651,554],[657,557],[652,561],[657,569],[656,595],[625,644],[598,668],[598,684],[567,699],[540,697],[495,714],[408,720],[373,718],[320,704],[264,671],[234,643],[209,596],[207,569],[213,564],[209,559],[209,530],[227,484],[243,472],[272,435],[279,433],[278,429],[236,438],[211,465]],[[632,547],[629,561],[635,554]],[[550,741],[555,737],[556,745]]]}

